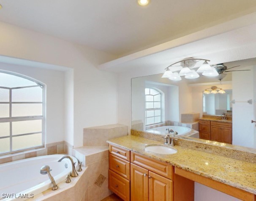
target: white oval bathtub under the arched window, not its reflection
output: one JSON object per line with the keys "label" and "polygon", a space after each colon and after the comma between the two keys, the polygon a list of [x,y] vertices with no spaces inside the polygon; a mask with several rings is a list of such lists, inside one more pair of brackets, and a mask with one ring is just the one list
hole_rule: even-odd
{"label": "white oval bathtub under the arched window, not its reflection", "polygon": [[[11,201],[15,197],[24,196],[18,199],[22,201],[52,188],[52,182],[49,180],[48,175],[40,174],[40,169],[44,165],[49,165],[52,169],[51,174],[58,185],[58,183],[65,180],[72,170],[69,159],[63,159],[61,162],[58,162],[58,159],[62,156],[61,154],[38,156],[0,164],[0,200]],[[73,156],[71,157],[76,162],[77,167],[77,159]],[[7,193],[15,193],[16,195],[9,194],[8,198]]]}

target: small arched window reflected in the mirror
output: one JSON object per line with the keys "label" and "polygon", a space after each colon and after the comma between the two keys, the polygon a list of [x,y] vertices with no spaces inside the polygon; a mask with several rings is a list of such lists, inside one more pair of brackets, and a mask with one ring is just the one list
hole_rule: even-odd
{"label": "small arched window reflected in the mirror", "polygon": [[153,88],[145,88],[146,126],[162,122],[161,93]]}

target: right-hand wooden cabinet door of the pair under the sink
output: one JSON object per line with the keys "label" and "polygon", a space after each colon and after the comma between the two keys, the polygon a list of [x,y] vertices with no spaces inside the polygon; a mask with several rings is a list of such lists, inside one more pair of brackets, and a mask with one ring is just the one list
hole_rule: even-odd
{"label": "right-hand wooden cabinet door of the pair under the sink", "polygon": [[149,200],[173,201],[172,180],[149,171]]}

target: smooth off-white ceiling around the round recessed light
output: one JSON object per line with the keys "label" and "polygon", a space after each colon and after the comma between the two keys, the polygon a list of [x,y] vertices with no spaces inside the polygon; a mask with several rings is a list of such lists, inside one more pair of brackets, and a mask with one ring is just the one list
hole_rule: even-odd
{"label": "smooth off-white ceiling around the round recessed light", "polygon": [[255,0],[0,0],[0,21],[118,57],[256,11]]}

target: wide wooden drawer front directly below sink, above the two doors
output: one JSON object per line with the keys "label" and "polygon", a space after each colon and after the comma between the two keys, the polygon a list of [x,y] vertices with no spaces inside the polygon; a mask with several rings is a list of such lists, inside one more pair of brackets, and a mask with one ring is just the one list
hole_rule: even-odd
{"label": "wide wooden drawer front directly below sink, above the two doors", "polygon": [[152,172],[155,172],[158,175],[162,175],[163,177],[167,177],[169,179],[172,179],[173,177],[172,165],[154,159],[149,159],[148,157],[134,152],[131,152],[131,162],[139,165],[140,167],[144,167]]}

